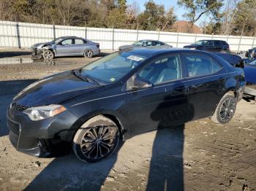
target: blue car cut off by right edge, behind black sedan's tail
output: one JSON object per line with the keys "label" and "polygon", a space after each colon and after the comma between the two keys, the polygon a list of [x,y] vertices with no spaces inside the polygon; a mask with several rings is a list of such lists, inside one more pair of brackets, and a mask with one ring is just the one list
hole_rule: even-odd
{"label": "blue car cut off by right edge, behind black sedan's tail", "polygon": [[244,99],[246,101],[256,101],[256,60],[246,63],[244,66],[244,74],[246,78]]}

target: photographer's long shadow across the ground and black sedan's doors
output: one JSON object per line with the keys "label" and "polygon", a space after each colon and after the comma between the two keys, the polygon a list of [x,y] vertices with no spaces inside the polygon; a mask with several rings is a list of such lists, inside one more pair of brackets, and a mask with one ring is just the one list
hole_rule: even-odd
{"label": "photographer's long shadow across the ground and black sedan's doors", "polygon": [[147,191],[184,190],[184,129],[185,122],[194,116],[194,106],[186,95],[178,95],[174,102],[166,97],[151,113],[151,119],[159,125],[152,147]]}

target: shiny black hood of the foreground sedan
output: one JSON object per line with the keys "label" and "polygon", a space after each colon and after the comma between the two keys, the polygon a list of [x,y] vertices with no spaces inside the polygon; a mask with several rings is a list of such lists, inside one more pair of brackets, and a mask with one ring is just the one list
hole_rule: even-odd
{"label": "shiny black hood of the foreground sedan", "polygon": [[18,93],[13,102],[22,106],[60,104],[98,87],[97,83],[87,82],[67,71],[34,82]]}

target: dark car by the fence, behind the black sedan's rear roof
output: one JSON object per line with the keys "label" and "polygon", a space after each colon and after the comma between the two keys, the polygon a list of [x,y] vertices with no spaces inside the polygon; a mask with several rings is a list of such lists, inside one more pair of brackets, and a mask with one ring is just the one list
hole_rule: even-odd
{"label": "dark car by the fence, behind the black sedan's rear roof", "polygon": [[204,50],[208,52],[230,52],[229,44],[222,40],[200,40],[194,44],[184,46],[184,48]]}

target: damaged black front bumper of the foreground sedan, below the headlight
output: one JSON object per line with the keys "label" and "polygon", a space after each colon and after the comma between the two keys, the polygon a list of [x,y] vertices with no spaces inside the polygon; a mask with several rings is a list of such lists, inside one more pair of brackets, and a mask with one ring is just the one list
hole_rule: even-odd
{"label": "damaged black front bumper of the foreground sedan, below the headlight", "polygon": [[65,111],[55,117],[33,122],[26,114],[10,108],[7,112],[9,139],[13,147],[35,157],[54,157],[70,151],[77,117]]}

